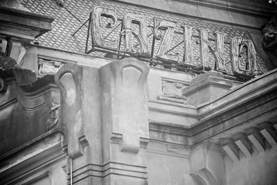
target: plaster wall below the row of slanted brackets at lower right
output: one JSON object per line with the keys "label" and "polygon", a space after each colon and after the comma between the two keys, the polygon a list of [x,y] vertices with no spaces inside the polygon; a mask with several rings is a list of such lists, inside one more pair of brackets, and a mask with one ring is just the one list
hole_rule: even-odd
{"label": "plaster wall below the row of slanted brackets at lower right", "polygon": [[[254,147],[252,147],[254,148]],[[252,157],[242,154],[240,161],[233,162],[224,155],[226,185],[274,185],[277,184],[277,148],[265,152],[253,150]]]}

